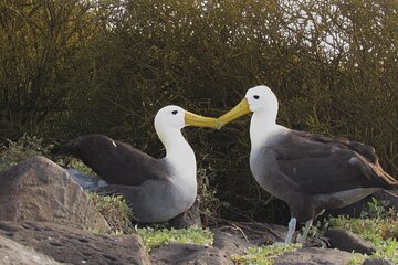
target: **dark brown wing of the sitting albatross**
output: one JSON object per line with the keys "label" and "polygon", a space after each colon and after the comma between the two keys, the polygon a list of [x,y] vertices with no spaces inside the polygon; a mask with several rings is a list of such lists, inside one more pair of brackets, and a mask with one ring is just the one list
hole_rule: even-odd
{"label": "dark brown wing of the sitting albatross", "polygon": [[61,150],[81,159],[112,184],[139,186],[149,179],[168,179],[168,168],[133,146],[103,135],[81,136]]}

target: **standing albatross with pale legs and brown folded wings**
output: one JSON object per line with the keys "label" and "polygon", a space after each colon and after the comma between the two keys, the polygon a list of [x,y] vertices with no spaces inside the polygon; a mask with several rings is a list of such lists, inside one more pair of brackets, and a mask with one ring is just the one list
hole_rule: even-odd
{"label": "standing albatross with pale legs and brown folded wings", "polygon": [[305,222],[300,237],[304,244],[313,220],[325,209],[346,206],[380,189],[397,189],[398,182],[383,170],[373,147],[277,125],[277,108],[275,94],[255,86],[218,118],[218,127],[253,113],[250,169],[265,191],[290,208],[286,244],[297,221]]}

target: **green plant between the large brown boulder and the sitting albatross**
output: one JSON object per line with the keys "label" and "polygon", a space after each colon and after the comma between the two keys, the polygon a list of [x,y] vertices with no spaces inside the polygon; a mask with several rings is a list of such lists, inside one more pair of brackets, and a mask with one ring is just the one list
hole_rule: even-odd
{"label": "green plant between the large brown boulder and the sitting albatross", "polygon": [[130,220],[133,212],[122,195],[100,195],[88,192],[98,212],[105,218],[112,233],[130,233],[134,231]]}

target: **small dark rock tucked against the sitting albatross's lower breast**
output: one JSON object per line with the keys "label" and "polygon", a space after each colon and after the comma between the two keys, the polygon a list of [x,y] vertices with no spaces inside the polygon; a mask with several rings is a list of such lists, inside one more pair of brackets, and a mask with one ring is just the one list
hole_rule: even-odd
{"label": "small dark rock tucked against the sitting albatross's lower breast", "polygon": [[168,226],[174,229],[188,229],[192,225],[201,226],[199,213],[200,200],[197,198],[191,208],[168,221]]}

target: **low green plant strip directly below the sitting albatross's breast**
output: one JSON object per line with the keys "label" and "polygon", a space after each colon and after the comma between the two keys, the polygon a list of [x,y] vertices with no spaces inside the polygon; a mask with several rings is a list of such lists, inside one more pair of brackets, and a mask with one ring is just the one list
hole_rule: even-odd
{"label": "low green plant strip directly below the sitting albatross's breast", "polygon": [[145,227],[137,229],[137,234],[143,237],[148,251],[170,243],[212,245],[213,241],[213,234],[210,230],[197,226],[181,230]]}

